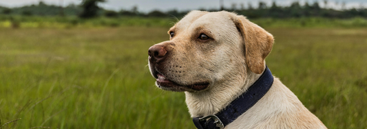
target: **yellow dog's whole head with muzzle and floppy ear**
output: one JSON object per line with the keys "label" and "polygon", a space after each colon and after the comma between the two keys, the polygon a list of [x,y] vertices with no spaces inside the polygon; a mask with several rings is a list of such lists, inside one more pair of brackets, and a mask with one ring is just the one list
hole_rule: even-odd
{"label": "yellow dog's whole head with muzzle and floppy ear", "polygon": [[261,74],[273,36],[231,12],[192,11],[149,48],[149,70],[163,90],[196,92]]}

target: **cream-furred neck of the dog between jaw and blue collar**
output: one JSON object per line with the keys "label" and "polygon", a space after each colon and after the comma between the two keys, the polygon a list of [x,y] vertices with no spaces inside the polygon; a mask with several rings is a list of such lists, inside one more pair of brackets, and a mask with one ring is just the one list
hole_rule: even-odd
{"label": "cream-furred neck of the dog between jaw and blue collar", "polygon": [[186,103],[191,117],[202,117],[215,115],[223,108],[229,105],[231,101],[246,92],[247,89],[255,83],[262,74],[248,72],[244,75],[245,79],[238,80],[236,76],[231,82],[222,81],[212,86],[209,90],[202,92],[185,92]]}

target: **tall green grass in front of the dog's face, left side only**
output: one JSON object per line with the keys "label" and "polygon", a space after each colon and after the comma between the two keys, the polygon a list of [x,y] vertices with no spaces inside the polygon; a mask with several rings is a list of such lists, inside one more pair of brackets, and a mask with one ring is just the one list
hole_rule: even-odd
{"label": "tall green grass in front of the dog's face, left side only", "polygon": [[185,108],[172,109],[183,96],[156,89],[146,67],[147,47],[165,31],[2,29],[1,121],[22,118],[11,128],[173,128],[155,123],[189,119]]}

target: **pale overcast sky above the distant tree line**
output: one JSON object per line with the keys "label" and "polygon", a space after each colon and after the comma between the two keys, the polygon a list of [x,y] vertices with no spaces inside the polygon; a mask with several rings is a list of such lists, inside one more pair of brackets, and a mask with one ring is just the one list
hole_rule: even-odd
{"label": "pale overcast sky above the distant tree line", "polygon": [[[82,0],[42,0],[48,4],[63,5],[67,6],[70,3],[80,4]],[[259,1],[264,1],[270,6],[272,1],[276,1],[278,5],[289,6],[293,1],[300,1],[303,5],[304,2],[313,3],[314,1],[319,1],[320,6],[324,6],[324,0],[224,0],[224,6],[231,7],[233,3],[237,3],[238,8],[240,4],[243,3],[245,7],[251,2],[253,7],[257,7]],[[328,0],[328,7],[340,8],[341,3],[345,2],[347,8],[360,8],[367,7],[367,0]],[[6,7],[19,7],[29,4],[38,4],[39,0],[0,0],[0,6]],[[339,3],[339,4],[337,4]],[[130,10],[133,6],[137,6],[139,11],[149,12],[151,10],[193,10],[198,8],[211,9],[219,8],[219,0],[107,0],[107,2],[102,3],[101,6],[111,10]]]}

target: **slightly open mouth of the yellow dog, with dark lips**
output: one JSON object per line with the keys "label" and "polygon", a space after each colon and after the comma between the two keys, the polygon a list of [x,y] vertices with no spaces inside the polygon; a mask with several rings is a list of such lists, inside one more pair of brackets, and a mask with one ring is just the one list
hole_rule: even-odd
{"label": "slightly open mouth of the yellow dog, with dark lips", "polygon": [[199,82],[193,83],[191,85],[180,85],[174,81],[167,79],[164,75],[157,72],[156,76],[157,85],[162,88],[163,90],[175,90],[175,89],[182,89],[182,88],[190,88],[192,90],[205,90],[209,86],[209,82]]}

